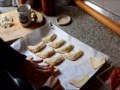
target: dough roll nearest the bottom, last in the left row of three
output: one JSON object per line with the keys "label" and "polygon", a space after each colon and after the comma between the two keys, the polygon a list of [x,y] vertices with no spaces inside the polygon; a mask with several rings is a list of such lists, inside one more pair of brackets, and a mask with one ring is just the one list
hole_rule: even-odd
{"label": "dough roll nearest the bottom, last in the left row of three", "polygon": [[59,54],[56,57],[46,58],[43,61],[52,66],[56,66],[56,65],[60,64],[62,61],[64,61],[64,57],[61,54]]}

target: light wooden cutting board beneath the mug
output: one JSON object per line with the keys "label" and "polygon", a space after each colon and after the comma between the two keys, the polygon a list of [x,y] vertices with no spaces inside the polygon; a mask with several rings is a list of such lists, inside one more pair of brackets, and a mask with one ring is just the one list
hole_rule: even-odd
{"label": "light wooden cutting board beneath the mug", "polygon": [[37,23],[32,21],[31,25],[28,27],[23,27],[19,22],[17,10],[0,14],[0,16],[11,16],[13,18],[12,27],[0,28],[0,38],[2,38],[6,42],[13,41],[21,37],[24,37],[25,35],[34,31],[36,28],[40,27],[41,23],[43,22],[43,16],[40,12],[38,11],[35,11],[35,12],[38,16],[38,21]]}

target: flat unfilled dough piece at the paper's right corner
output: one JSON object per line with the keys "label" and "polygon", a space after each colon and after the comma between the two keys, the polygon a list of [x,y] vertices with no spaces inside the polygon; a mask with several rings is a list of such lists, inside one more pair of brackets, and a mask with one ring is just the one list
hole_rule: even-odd
{"label": "flat unfilled dough piece at the paper's right corner", "polygon": [[95,59],[94,57],[90,57],[89,60],[94,69],[100,67],[101,65],[103,65],[105,63],[105,58],[104,59],[100,59],[100,58]]}

